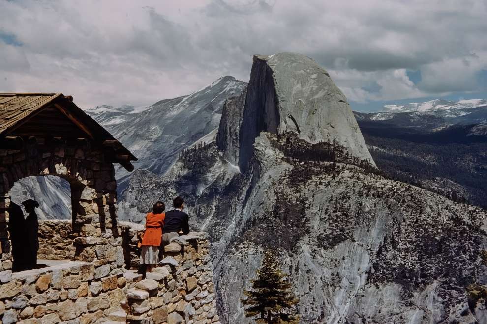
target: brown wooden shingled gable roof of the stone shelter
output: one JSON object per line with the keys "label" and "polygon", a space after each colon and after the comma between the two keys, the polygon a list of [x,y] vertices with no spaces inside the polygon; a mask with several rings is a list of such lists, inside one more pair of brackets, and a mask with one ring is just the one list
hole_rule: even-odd
{"label": "brown wooden shingled gable roof of the stone shelter", "polygon": [[[29,127],[36,122],[35,116],[38,115],[40,121],[42,115],[52,113],[54,109],[59,111],[63,118],[69,119],[74,127],[77,127],[77,132],[74,134],[83,134],[87,138],[101,143],[107,140],[116,141],[117,154],[125,154],[128,155],[129,160],[137,160],[127,148],[76,106],[72,100],[71,96],[64,96],[62,93],[0,93],[0,139],[15,135],[16,131],[20,132],[20,130],[23,130],[23,135],[25,135],[25,130],[29,130]],[[50,126],[49,121],[46,122],[45,119],[41,123],[45,127]],[[51,127],[55,128],[54,120],[52,124]]]}

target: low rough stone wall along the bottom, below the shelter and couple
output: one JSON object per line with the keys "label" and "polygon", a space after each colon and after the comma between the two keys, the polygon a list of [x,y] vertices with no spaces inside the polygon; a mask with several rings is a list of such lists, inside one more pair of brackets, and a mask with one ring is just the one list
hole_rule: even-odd
{"label": "low rough stone wall along the bottom, below the shelter and couple", "polygon": [[[42,229],[51,231],[47,223]],[[130,233],[129,227],[123,224],[119,232]],[[124,268],[122,235],[80,236],[71,242],[75,258],[84,261],[0,272],[2,323],[219,324],[206,233],[176,238],[144,280]]]}

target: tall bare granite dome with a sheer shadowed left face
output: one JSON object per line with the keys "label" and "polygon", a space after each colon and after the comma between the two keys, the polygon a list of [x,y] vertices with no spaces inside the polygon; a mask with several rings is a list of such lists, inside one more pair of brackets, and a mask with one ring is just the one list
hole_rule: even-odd
{"label": "tall bare granite dome with a sheer shadowed left face", "polygon": [[254,56],[240,129],[241,170],[248,170],[254,139],[262,131],[293,131],[310,143],[337,142],[375,165],[345,95],[301,54]]}

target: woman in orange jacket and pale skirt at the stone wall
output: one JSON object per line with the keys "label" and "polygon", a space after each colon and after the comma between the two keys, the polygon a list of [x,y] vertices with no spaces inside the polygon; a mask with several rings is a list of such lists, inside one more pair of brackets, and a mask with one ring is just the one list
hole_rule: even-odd
{"label": "woman in orange jacket and pale skirt at the stone wall", "polygon": [[142,251],[140,254],[140,264],[146,265],[146,272],[151,272],[152,268],[159,262],[159,246],[162,239],[162,227],[164,227],[164,218],[166,206],[163,202],[158,201],[152,206],[152,213],[146,216],[146,231],[142,238]]}

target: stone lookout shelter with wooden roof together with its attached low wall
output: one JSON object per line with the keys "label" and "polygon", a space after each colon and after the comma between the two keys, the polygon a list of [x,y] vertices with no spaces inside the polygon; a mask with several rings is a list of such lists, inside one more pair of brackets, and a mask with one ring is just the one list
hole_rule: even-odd
{"label": "stone lookout shelter with wooden roof together with its attached low wall", "polygon": [[[72,97],[0,93],[0,321],[30,323],[219,324],[206,233],[166,246],[142,280],[137,232],[117,223],[114,163],[136,158],[78,108]],[[71,186],[72,219],[39,222],[46,267],[12,273],[8,196],[28,176]]]}

